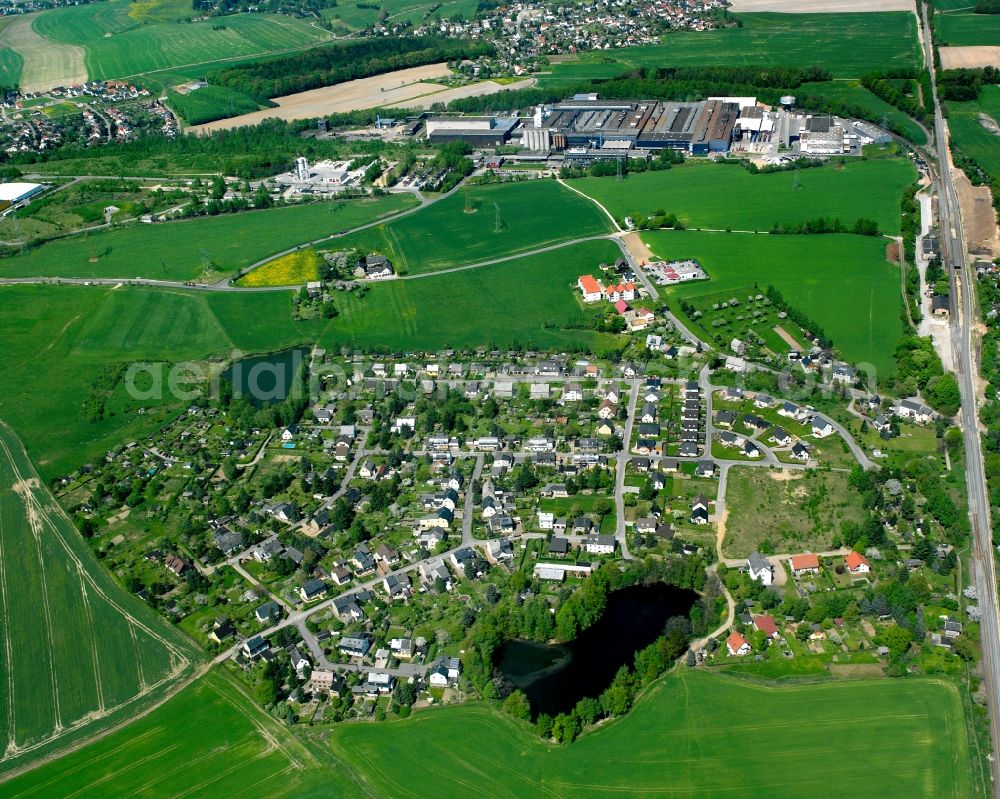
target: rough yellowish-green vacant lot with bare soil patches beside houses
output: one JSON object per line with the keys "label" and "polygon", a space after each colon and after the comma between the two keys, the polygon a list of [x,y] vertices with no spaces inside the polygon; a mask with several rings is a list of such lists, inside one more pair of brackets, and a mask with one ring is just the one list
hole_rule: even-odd
{"label": "rough yellowish-green vacant lot with bare soil patches beside houses", "polygon": [[723,554],[745,558],[753,550],[795,553],[832,548],[842,522],[860,523],[859,495],[844,472],[802,472],[734,467],[726,483]]}

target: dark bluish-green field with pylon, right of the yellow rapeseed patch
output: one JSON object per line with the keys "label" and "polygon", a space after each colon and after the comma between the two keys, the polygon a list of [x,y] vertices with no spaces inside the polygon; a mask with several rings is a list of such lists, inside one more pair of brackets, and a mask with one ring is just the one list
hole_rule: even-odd
{"label": "dark bluish-green field with pylon, right of the yellow rapeseed patch", "polygon": [[468,194],[460,189],[416,213],[327,246],[381,252],[401,274],[416,274],[610,232],[610,220],[593,203],[555,181],[532,180],[471,186]]}

